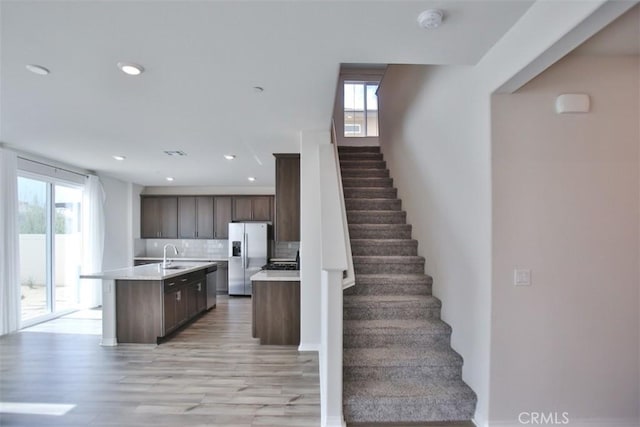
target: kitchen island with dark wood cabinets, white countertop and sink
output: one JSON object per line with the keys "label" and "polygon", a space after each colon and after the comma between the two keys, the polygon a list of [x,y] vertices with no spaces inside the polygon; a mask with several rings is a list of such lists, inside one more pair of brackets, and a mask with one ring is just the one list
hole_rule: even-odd
{"label": "kitchen island with dark wood cabinets, white countertop and sink", "polygon": [[103,345],[157,344],[207,308],[216,263],[146,264],[83,275],[103,282]]}

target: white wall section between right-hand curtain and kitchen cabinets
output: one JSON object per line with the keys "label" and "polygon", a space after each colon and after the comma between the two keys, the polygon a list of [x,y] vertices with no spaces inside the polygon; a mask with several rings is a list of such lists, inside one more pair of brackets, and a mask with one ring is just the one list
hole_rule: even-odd
{"label": "white wall section between right-hand curtain and kitchen cabinets", "polygon": [[[138,206],[136,214],[135,201],[139,198],[141,187],[106,175],[100,175],[100,182],[106,196],[102,269],[130,266],[133,264],[133,236],[136,232],[134,224],[140,221],[140,210]],[[138,224],[138,236],[139,227]]]}

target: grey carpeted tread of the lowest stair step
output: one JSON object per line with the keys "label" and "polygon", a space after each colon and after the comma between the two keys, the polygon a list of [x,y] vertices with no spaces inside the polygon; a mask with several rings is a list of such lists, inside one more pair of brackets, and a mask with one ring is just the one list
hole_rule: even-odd
{"label": "grey carpeted tread of the lowest stair step", "polygon": [[345,401],[358,398],[419,398],[433,402],[451,399],[475,400],[476,394],[462,380],[434,381],[428,384],[411,381],[358,380],[343,384]]}

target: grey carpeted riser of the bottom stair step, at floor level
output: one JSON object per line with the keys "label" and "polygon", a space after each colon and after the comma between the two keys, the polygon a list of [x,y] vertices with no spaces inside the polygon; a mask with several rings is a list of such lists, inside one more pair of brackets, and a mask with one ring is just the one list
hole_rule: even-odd
{"label": "grey carpeted riser of the bottom stair step, at floor level", "polygon": [[347,423],[463,421],[473,418],[475,401],[443,398],[359,398],[344,404]]}

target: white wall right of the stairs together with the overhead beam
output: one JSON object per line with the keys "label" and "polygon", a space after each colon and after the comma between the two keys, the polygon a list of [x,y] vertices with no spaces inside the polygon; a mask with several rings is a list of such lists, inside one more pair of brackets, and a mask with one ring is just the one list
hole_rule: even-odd
{"label": "white wall right of the stairs together with the overhead beam", "polygon": [[453,327],[452,346],[464,358],[463,379],[478,395],[474,419],[479,426],[493,418],[489,403],[495,379],[491,94],[525,69],[544,69],[549,65],[544,53],[552,48],[557,54],[575,47],[584,34],[570,35],[584,29],[582,22],[589,20],[597,31],[594,23],[614,19],[611,10],[599,21],[592,19],[610,4],[535,2],[478,64],[393,65],[379,91],[380,145],[427,273],[434,276],[442,317]]}

